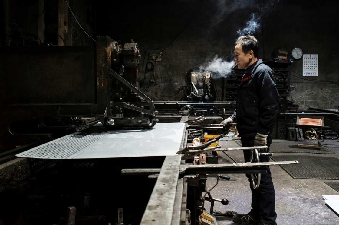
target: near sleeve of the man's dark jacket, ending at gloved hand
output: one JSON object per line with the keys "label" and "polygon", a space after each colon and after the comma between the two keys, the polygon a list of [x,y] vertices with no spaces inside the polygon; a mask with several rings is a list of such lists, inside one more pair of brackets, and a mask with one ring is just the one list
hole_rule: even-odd
{"label": "near sleeve of the man's dark jacket, ending at gloved hand", "polygon": [[268,135],[277,120],[279,110],[279,93],[273,71],[262,71],[257,82],[259,96],[258,133]]}

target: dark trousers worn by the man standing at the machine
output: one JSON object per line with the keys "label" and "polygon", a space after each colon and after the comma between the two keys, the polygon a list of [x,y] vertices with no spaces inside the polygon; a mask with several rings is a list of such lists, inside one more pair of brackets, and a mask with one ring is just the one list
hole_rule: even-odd
{"label": "dark trousers worn by the man standing at the machine", "polygon": [[[242,147],[250,147],[254,145],[254,138],[241,138]],[[270,147],[272,143],[272,138],[267,138],[267,146]],[[270,151],[270,148],[267,149],[267,152]],[[251,160],[249,150],[243,150],[245,162]],[[260,157],[260,162],[268,162],[270,157],[262,156]],[[258,189],[253,189],[252,187],[252,178],[251,174],[246,174],[248,181],[250,181],[250,187],[252,191],[252,209],[251,214],[256,220],[260,220],[262,223],[272,223],[274,224],[277,214],[275,212],[275,192],[271,176],[271,171],[269,166],[267,168],[267,173],[261,174],[260,185]]]}

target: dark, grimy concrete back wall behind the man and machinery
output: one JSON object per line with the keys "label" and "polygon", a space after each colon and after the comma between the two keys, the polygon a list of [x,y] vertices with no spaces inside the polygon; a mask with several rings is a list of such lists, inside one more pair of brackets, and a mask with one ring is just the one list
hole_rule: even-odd
{"label": "dark, grimy concrete back wall behind the man and machinery", "polygon": [[[262,15],[261,30],[255,36],[263,44],[261,58],[272,58],[275,48],[291,51],[300,47],[306,54],[319,54],[319,76],[311,80],[300,79],[302,60],[295,61],[292,66],[294,76],[291,77],[293,91],[289,98],[299,104],[300,109],[338,107],[339,86],[332,82],[312,81],[338,83],[337,3],[258,2],[262,1],[176,0],[142,4],[125,1],[104,8],[98,6],[97,32],[122,42],[133,38],[143,52],[143,67],[147,62],[146,58],[142,64],[143,57],[147,56],[144,51],[160,51],[174,40],[163,51],[161,62],[156,62],[156,83],[146,94],[154,100],[180,100],[183,92],[179,90],[185,85],[186,72],[205,65],[216,54],[229,58],[237,38],[236,31],[244,27],[252,12],[259,12]],[[141,81],[142,71],[141,68]],[[146,73],[144,85],[148,86],[151,75]],[[221,95],[221,80],[214,81]]]}

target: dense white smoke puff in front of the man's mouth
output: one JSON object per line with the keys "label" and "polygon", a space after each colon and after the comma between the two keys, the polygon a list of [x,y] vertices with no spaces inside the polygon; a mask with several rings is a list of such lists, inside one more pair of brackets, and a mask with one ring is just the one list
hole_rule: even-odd
{"label": "dense white smoke puff in front of the man's mouth", "polygon": [[206,71],[213,73],[213,78],[221,78],[227,76],[232,72],[232,68],[235,65],[235,61],[226,61],[223,58],[219,58],[218,55],[214,56],[213,60],[208,62],[204,68]]}

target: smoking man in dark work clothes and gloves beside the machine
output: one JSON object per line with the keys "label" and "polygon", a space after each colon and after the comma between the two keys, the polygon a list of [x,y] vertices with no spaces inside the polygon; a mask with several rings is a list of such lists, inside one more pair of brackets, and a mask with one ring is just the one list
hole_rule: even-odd
{"label": "smoking man in dark work clothes and gloves beside the machine", "polygon": [[[259,42],[254,36],[241,36],[234,48],[235,62],[239,69],[245,69],[238,88],[237,108],[223,123],[237,122],[237,129],[243,147],[264,146],[272,143],[271,130],[278,115],[279,94],[272,69],[258,59]],[[269,151],[269,149],[268,149]],[[244,150],[245,162],[250,161],[250,151]],[[267,156],[260,157],[268,162]],[[261,174],[260,186],[253,189],[251,175],[246,174],[252,191],[252,209],[245,215],[235,215],[237,224],[276,224],[275,192],[270,168]]]}

